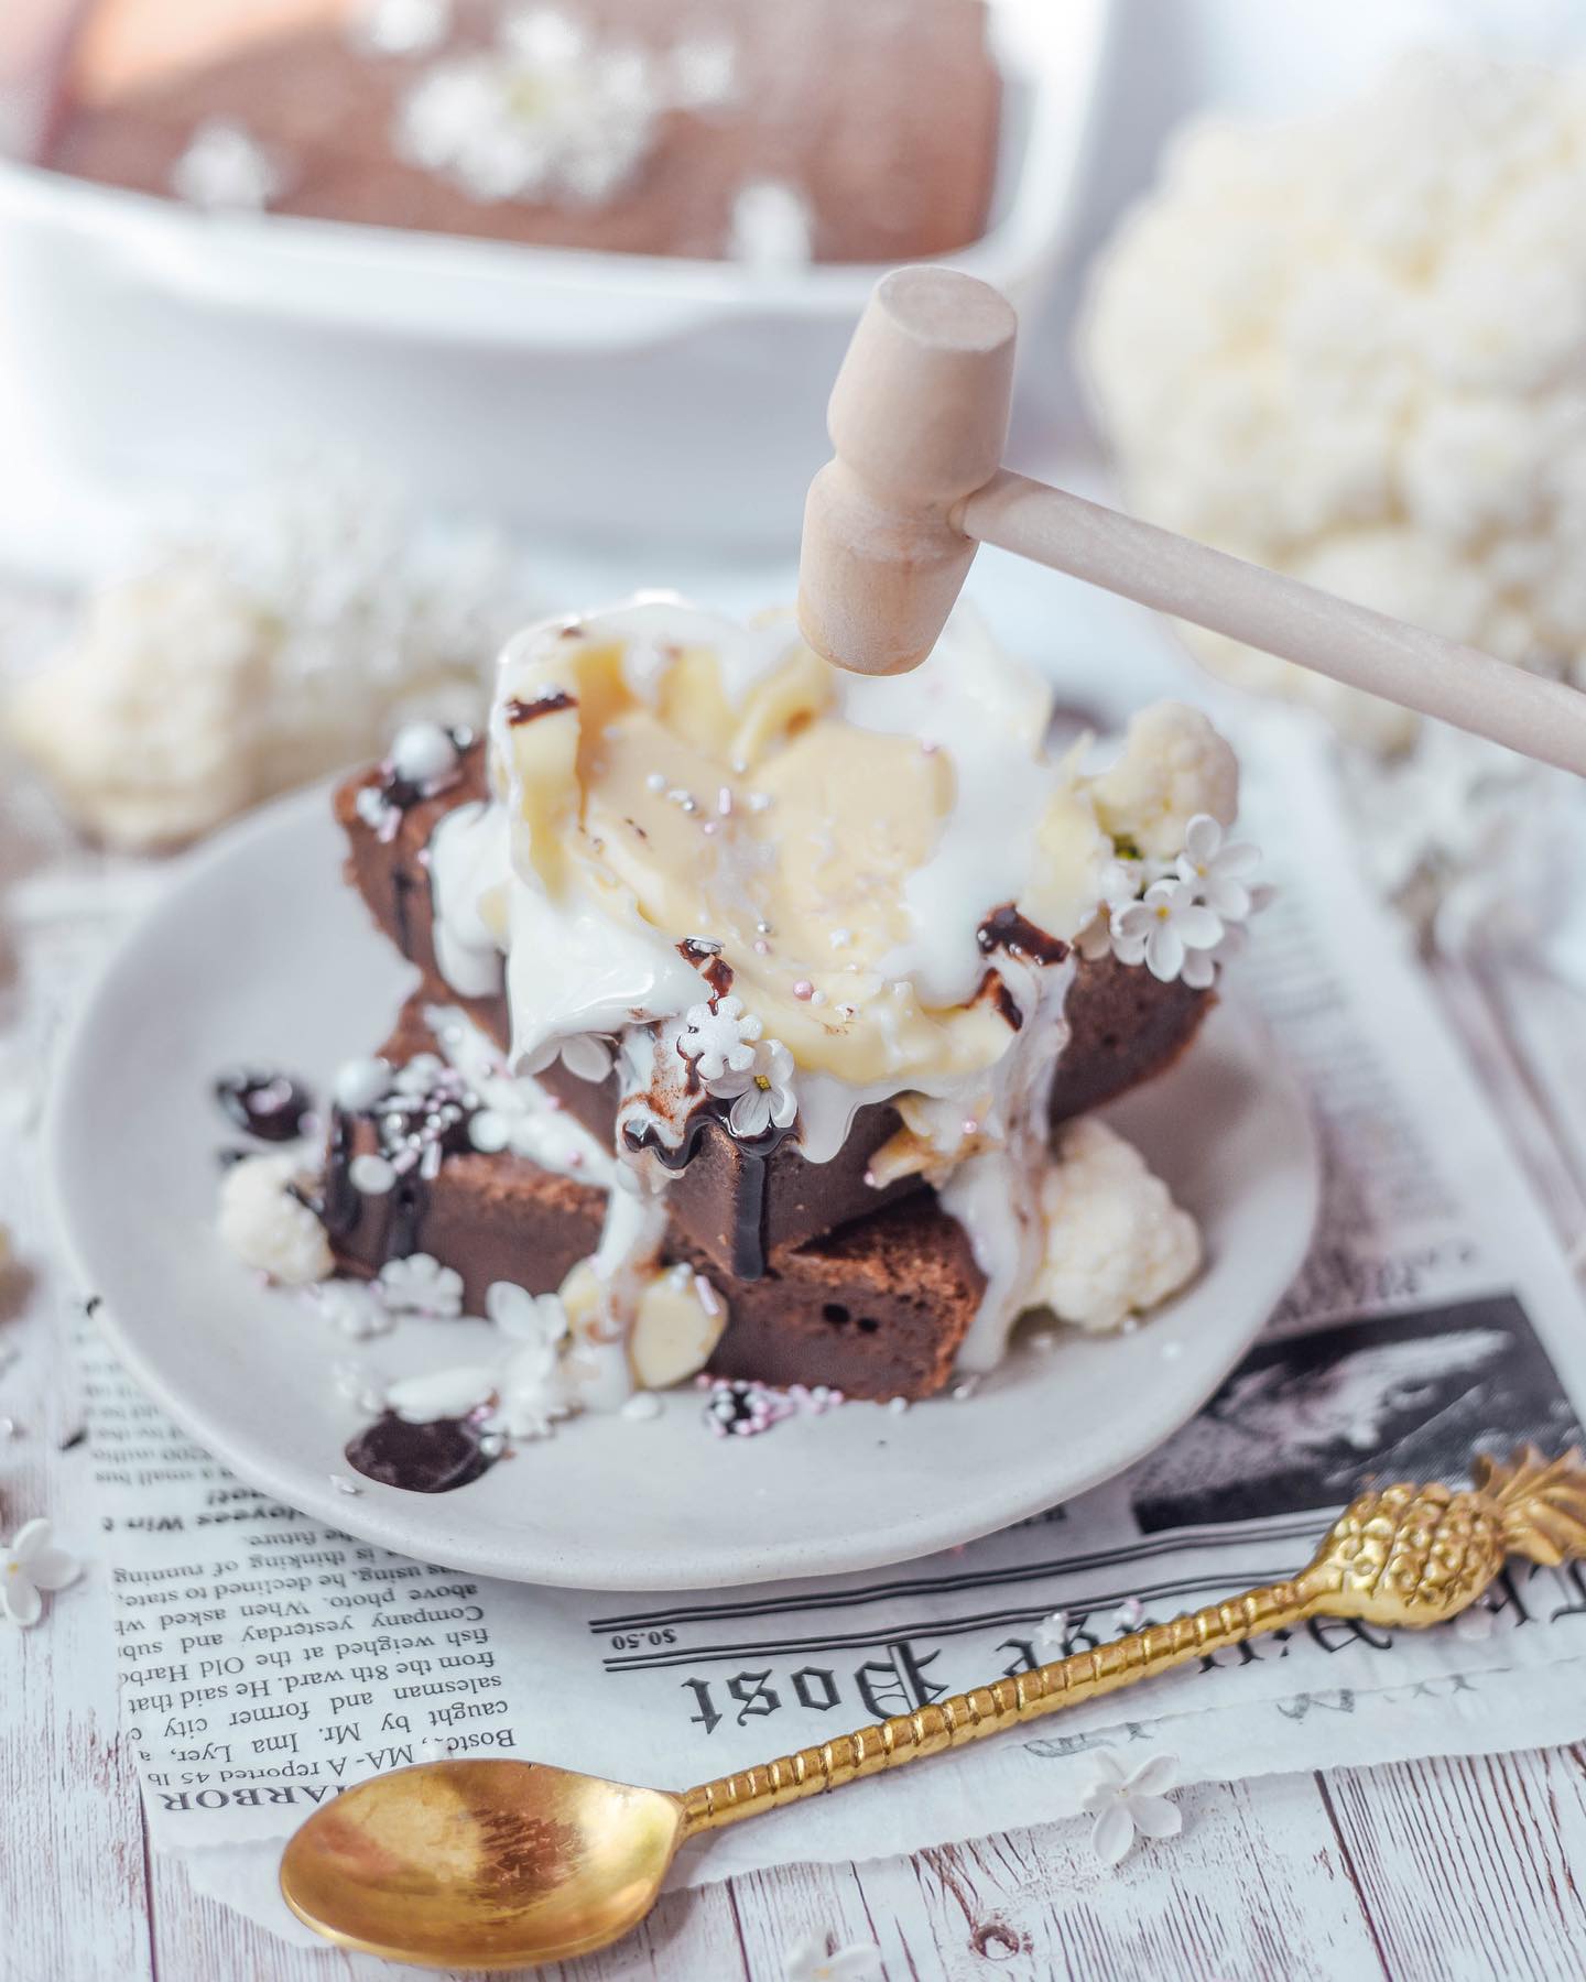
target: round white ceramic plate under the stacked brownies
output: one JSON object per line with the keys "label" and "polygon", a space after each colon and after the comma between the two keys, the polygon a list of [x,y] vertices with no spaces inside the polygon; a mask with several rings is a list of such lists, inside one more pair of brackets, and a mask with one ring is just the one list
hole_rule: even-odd
{"label": "round white ceramic plate under the stacked brownies", "polygon": [[484,1324],[333,1336],[262,1288],[212,1233],[210,1098],[236,1062],[323,1090],[385,1035],[404,967],[341,884],[323,791],[194,858],[103,973],[59,1070],[50,1167],[113,1346],[194,1439],[254,1486],[448,1568],[599,1590],[684,1590],[864,1570],[967,1542],[1120,1473],[1182,1425],[1251,1344],[1316,1211],[1304,1106],[1249,1015],[1223,1005],[1184,1064],[1112,1110],[1205,1227],[1201,1278],[1128,1336],[1015,1348],[969,1401],[852,1403],[716,1439],[700,1399],[648,1423],[583,1417],[450,1494],[363,1481],[331,1366],[387,1376],[468,1362]]}

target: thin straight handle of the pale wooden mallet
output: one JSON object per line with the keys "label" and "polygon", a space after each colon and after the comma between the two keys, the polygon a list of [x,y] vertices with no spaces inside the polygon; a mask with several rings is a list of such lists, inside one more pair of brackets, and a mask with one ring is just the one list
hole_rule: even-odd
{"label": "thin straight handle of the pale wooden mallet", "polygon": [[979,543],[1586,773],[1586,696],[1473,646],[999,470],[950,515]]}

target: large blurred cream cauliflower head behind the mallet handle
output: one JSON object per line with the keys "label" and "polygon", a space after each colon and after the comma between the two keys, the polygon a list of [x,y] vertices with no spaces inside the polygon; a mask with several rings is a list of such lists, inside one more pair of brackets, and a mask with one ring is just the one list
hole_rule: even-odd
{"label": "large blurred cream cauliflower head behind the mallet handle", "polygon": [[[1421,54],[1326,115],[1191,127],[1080,329],[1132,505],[1586,684],[1582,210],[1586,73]],[[1366,743],[1416,735],[1186,636]]]}

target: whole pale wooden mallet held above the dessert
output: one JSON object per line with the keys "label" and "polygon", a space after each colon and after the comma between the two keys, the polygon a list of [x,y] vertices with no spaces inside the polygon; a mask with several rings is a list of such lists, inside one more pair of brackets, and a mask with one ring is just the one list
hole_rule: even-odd
{"label": "whole pale wooden mallet held above the dessert", "polygon": [[1017,317],[973,275],[900,268],[831,394],[805,507],[799,620],[839,668],[904,674],[981,543],[1229,634],[1421,716],[1586,773],[1586,696],[1001,466]]}

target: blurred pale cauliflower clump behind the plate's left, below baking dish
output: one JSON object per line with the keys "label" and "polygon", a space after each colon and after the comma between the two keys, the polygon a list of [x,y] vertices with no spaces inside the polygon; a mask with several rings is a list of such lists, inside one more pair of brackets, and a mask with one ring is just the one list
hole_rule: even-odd
{"label": "blurred pale cauliflower clump behind the plate's left, below baking dish", "polygon": [[0,729],[113,846],[172,846],[381,749],[470,721],[521,587],[494,539],[424,537],[333,460],[238,492],[107,585]]}

